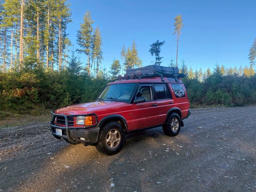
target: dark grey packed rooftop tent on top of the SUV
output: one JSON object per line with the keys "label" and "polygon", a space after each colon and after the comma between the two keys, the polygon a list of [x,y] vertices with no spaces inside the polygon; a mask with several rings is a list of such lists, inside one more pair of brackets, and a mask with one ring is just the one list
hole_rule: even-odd
{"label": "dark grey packed rooftop tent on top of the SUV", "polygon": [[174,67],[164,67],[159,65],[148,65],[142,68],[135,69],[127,69],[127,75],[131,74],[136,75],[137,73],[141,73],[142,76],[148,75],[163,75],[167,77],[178,77],[179,69]]}

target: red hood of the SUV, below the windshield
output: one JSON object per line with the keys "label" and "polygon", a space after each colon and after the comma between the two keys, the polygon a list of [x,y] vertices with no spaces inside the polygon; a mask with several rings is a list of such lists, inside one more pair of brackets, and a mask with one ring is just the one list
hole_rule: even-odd
{"label": "red hood of the SUV, below the windshield", "polygon": [[87,113],[94,113],[94,111],[111,108],[119,105],[125,105],[127,103],[124,102],[107,102],[107,101],[100,101],[100,102],[89,102],[89,103],[81,103],[77,105],[71,105],[68,107],[64,107],[61,109],[57,109],[55,113],[63,113],[67,115],[72,114],[87,114]]}

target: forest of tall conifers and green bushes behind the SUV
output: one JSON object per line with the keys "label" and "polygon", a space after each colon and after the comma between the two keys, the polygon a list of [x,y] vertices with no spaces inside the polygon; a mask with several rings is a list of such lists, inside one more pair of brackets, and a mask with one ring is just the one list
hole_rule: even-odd
{"label": "forest of tall conifers and green bushes behind the SUV", "polygon": [[[67,0],[0,0],[0,110],[30,113],[32,109],[57,109],[94,101],[107,83],[125,74],[127,68],[145,66],[139,59],[136,41],[123,46],[120,60],[102,68],[102,36],[93,28],[90,11],[77,31],[79,49],[66,33],[72,22]],[[181,15],[175,18],[177,45],[183,27]],[[73,34],[72,34],[73,35]],[[160,47],[149,45],[155,63],[161,65]],[[120,46],[121,47],[121,46]],[[82,62],[79,54],[85,54]],[[150,54],[149,54],[150,56]],[[171,60],[186,76],[183,79],[193,107],[241,106],[256,104],[256,39],[249,49],[249,66],[214,69],[188,68],[186,61]]]}

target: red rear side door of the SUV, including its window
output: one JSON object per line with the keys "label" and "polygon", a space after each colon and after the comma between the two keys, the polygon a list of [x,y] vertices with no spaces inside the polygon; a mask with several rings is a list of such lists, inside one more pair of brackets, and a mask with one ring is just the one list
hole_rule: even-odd
{"label": "red rear side door of the SUV, including its window", "polygon": [[158,124],[163,124],[167,112],[173,107],[173,98],[166,83],[155,83],[154,94],[158,105]]}

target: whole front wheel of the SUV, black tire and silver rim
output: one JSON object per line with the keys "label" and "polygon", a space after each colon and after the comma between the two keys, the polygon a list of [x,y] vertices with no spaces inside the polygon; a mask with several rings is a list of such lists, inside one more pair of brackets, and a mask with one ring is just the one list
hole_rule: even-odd
{"label": "whole front wheel of the SUV, black tire and silver rim", "polygon": [[101,128],[96,149],[103,154],[113,155],[124,147],[124,143],[125,137],[122,126],[111,121]]}

